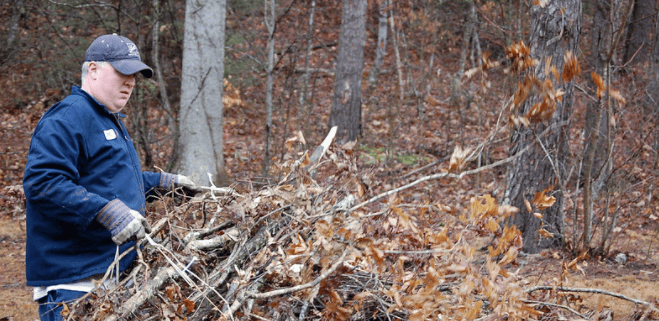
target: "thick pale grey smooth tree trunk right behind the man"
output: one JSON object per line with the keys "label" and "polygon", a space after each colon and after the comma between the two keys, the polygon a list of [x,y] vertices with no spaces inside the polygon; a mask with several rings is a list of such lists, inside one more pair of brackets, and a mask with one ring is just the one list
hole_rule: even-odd
{"label": "thick pale grey smooth tree trunk right behind the man", "polygon": [[187,0],[179,172],[201,185],[228,185],[224,168],[222,93],[226,0]]}

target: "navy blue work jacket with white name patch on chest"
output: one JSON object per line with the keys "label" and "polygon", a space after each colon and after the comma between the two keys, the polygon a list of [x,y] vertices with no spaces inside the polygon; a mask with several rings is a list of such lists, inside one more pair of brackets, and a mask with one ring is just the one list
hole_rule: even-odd
{"label": "navy blue work jacket with white name patch on chest", "polygon": [[[142,172],[119,117],[74,86],[37,124],[23,187],[27,200],[28,286],[65,284],[105,273],[115,256],[110,232],[95,220],[118,199],[144,215],[145,195],[172,174]],[[120,252],[133,246],[123,244]],[[133,251],[120,264],[125,270]]]}

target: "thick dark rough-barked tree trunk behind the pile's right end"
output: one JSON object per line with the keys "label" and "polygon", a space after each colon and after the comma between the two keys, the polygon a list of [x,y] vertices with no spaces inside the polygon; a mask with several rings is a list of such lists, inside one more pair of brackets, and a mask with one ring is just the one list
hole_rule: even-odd
{"label": "thick dark rough-barked tree trunk behind the pile's right end", "polygon": [[[560,72],[563,69],[565,53],[568,50],[573,53],[578,51],[581,1],[551,1],[544,7],[535,5],[531,10],[529,40],[531,56],[540,61],[538,65],[532,67],[534,75],[540,82],[549,78],[555,89],[562,89],[565,92],[563,99],[556,102],[556,110],[548,121],[517,127],[511,137],[510,155],[517,154],[529,145],[530,147],[511,164],[504,203],[520,209],[511,218],[511,223],[515,224],[523,234],[523,250],[535,253],[542,248],[559,245],[563,240],[563,193],[567,175],[565,166],[568,155],[568,120],[572,113],[574,84],[571,81],[559,82],[551,76],[551,73],[547,76],[545,62],[546,59],[551,58],[552,64]],[[519,112],[526,115],[536,102],[540,102],[540,99],[537,96],[530,97],[521,105]],[[540,136],[539,134],[547,128],[550,128],[548,134]],[[545,210],[534,208],[528,211],[525,200],[532,201],[537,193],[544,190],[547,190],[547,195],[556,198],[553,206]],[[542,221],[533,215],[534,212],[543,214]],[[553,233],[553,237],[539,238],[536,232],[541,225],[545,230]]]}

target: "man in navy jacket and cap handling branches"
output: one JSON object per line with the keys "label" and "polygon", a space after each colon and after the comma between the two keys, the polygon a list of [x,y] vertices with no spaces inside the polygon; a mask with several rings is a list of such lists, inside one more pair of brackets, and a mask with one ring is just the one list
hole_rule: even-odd
{"label": "man in navy jacket and cap handling branches", "polygon": [[[89,46],[82,86],[53,105],[32,135],[23,178],[27,199],[27,285],[41,320],[61,320],[60,302],[94,288],[117,247],[123,253],[150,233],[145,195],[154,188],[193,184],[185,176],[142,172],[120,113],[147,78],[135,44],[113,35]],[[125,270],[136,253],[119,264]]]}

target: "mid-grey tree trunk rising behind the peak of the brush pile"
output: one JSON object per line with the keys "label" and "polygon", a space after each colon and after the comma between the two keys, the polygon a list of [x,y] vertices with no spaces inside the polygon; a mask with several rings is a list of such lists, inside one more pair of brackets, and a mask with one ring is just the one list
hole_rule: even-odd
{"label": "mid-grey tree trunk rising behind the peak of the brush pile", "polygon": [[337,141],[361,134],[362,73],[366,41],[366,0],[343,0],[339,56],[329,127],[338,126]]}

